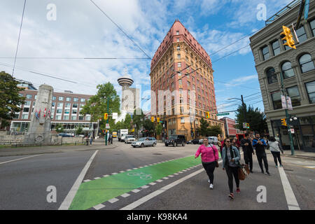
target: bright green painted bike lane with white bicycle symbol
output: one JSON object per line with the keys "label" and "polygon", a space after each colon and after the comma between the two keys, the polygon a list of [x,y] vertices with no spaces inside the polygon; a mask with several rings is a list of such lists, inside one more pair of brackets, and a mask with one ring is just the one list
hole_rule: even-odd
{"label": "bright green painted bike lane with white bicycle symbol", "polygon": [[90,209],[149,183],[200,164],[200,158],[195,159],[194,156],[189,156],[81,183],[69,209]]}

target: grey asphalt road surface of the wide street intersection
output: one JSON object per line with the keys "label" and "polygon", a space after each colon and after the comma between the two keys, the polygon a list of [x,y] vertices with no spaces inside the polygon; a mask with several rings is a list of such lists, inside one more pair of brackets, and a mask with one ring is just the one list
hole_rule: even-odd
{"label": "grey asphalt road surface of the wide street intersection", "polygon": [[[241,181],[241,193],[235,193],[235,200],[230,201],[228,178],[222,168],[216,169],[214,190],[210,190],[207,174],[202,170],[200,160],[188,158],[195,155],[199,145],[174,148],[158,144],[156,147],[132,148],[130,144],[114,142],[114,146],[116,148],[105,149],[102,146],[95,146],[95,148],[90,146],[84,151],[72,150],[35,156],[1,157],[0,209],[59,209],[73,187],[73,183],[76,182],[87,161],[96,150],[98,150],[97,154],[80,184],[76,200],[88,201],[90,200],[87,197],[88,194],[94,196],[103,191],[112,191],[113,195],[116,192],[124,194],[115,196],[114,200],[106,199],[100,204],[91,202],[91,207],[86,209],[118,210],[126,209],[135,203],[137,204],[134,207],[135,210],[288,209],[279,169],[275,168],[269,152],[269,172],[272,175],[267,176],[260,173],[254,155],[255,173],[245,181]],[[183,162],[180,158],[188,158],[189,161]],[[284,171],[300,209],[315,209],[315,170],[312,168],[315,166],[314,160],[284,157],[282,160]],[[168,170],[179,169],[176,167],[179,165],[185,167],[183,168],[185,171],[180,169],[181,171],[176,171],[173,175],[167,174]],[[151,183],[147,181],[144,183],[146,187],[140,185],[139,188],[132,191],[131,186],[134,186],[134,183],[128,182],[129,179],[124,179],[122,176],[130,172],[128,170],[141,172],[142,169],[151,169],[160,176],[164,174],[167,176]],[[152,176],[154,179],[155,176],[153,174]],[[89,181],[85,182],[86,180]],[[118,185],[113,187],[115,189],[110,188],[111,184],[99,185],[102,183],[101,181],[106,180],[108,181],[106,183],[111,183],[110,180],[116,181],[115,183]],[[97,186],[97,188],[87,188],[87,192],[84,192],[83,187],[86,185]],[[57,202],[47,201],[47,195],[50,193],[46,191],[48,186],[55,186]],[[257,200],[260,186],[265,186],[266,202]]]}

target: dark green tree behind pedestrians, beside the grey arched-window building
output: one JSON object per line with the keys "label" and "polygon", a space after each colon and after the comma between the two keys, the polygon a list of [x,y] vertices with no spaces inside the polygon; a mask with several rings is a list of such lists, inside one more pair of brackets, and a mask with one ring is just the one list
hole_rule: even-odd
{"label": "dark green tree behind pedestrians, beside the grey arched-window building", "polygon": [[[236,113],[237,125],[235,125],[239,130],[243,130],[244,119],[244,107],[239,106]],[[249,130],[265,133],[268,132],[267,119],[265,113],[262,113],[258,108],[254,109],[253,106],[249,106],[246,109],[246,121],[249,123]]]}

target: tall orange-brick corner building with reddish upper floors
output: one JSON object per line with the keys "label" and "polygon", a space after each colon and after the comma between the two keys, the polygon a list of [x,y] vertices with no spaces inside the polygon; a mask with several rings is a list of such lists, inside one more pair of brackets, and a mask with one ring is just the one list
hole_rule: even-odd
{"label": "tall orange-brick corner building with reddish upper floors", "polygon": [[213,73],[206,50],[176,20],[151,61],[151,116],[163,122],[163,137],[200,137],[197,128],[202,118],[220,125],[224,133],[223,122],[216,116]]}

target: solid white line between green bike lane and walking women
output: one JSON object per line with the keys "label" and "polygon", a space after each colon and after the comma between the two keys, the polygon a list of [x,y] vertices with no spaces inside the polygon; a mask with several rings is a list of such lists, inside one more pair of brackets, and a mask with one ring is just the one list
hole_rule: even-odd
{"label": "solid white line between green bike lane and walking women", "polygon": [[[221,163],[221,161],[219,161],[218,163]],[[170,183],[167,186],[164,186],[162,188],[160,188],[159,190],[155,190],[155,192],[146,195],[145,197],[140,198],[139,200],[137,200],[136,202],[133,202],[132,204],[127,205],[126,207],[123,207],[120,210],[132,210],[135,209],[137,207],[139,207],[141,204],[144,204],[145,202],[147,202],[148,200],[151,200],[153,197],[156,197],[162,193],[164,193],[166,190],[169,190],[170,188],[173,188],[174,186],[178,185],[179,183],[182,183],[183,181],[186,181],[190,178],[192,178],[193,176],[196,176],[197,174],[200,174],[201,172],[204,172],[204,168],[197,170],[196,172],[193,172],[192,174],[188,174],[187,176],[184,176],[183,178],[174,181],[173,183]]]}

